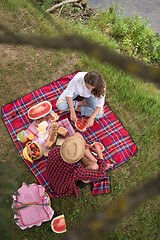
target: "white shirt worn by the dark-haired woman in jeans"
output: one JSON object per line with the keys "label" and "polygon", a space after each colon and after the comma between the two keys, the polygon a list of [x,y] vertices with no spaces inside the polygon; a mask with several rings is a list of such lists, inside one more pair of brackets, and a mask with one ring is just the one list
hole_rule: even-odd
{"label": "white shirt worn by the dark-haired woman in jeans", "polygon": [[91,93],[91,91],[85,86],[84,76],[86,74],[87,72],[79,72],[74,76],[74,78],[69,82],[67,88],[65,89],[65,96],[73,97],[74,93],[84,98],[93,96],[96,100],[96,106],[103,107],[105,95],[103,97],[97,98]]}

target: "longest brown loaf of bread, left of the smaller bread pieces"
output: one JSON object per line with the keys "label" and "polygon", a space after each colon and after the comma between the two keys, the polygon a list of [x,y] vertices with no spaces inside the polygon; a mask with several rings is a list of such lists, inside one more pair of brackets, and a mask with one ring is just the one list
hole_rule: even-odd
{"label": "longest brown loaf of bread, left of the smaller bread pieces", "polygon": [[45,144],[46,148],[51,148],[53,146],[53,144],[56,142],[57,139],[57,130],[59,128],[59,123],[58,122],[53,122],[50,128],[50,132],[49,132],[49,137],[48,140]]}

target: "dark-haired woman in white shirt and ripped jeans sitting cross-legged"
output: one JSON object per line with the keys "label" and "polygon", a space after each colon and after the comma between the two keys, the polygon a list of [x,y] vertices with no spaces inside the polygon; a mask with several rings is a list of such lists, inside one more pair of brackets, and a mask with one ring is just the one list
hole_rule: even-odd
{"label": "dark-haired woman in white shirt and ripped jeans sitting cross-legged", "polygon": [[[69,82],[56,106],[60,110],[70,110],[70,118],[74,122],[77,120],[75,111],[90,117],[86,125],[88,128],[94,124],[95,118],[103,116],[105,90],[105,82],[99,72],[79,72]],[[83,99],[78,101],[76,99],[78,96]]]}

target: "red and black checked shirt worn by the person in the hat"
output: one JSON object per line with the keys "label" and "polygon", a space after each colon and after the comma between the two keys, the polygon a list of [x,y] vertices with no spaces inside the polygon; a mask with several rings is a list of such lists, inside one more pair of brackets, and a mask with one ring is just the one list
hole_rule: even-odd
{"label": "red and black checked shirt worn by the person in the hat", "polygon": [[69,164],[60,155],[60,147],[54,147],[49,152],[46,167],[47,179],[50,187],[59,196],[75,194],[78,197],[80,190],[76,186],[76,180],[96,181],[105,178],[105,162],[98,161],[99,170],[85,169],[82,164]]}

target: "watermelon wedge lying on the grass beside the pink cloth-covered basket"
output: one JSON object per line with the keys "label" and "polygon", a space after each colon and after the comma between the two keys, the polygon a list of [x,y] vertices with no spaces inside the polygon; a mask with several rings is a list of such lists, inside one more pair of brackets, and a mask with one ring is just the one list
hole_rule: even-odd
{"label": "watermelon wedge lying on the grass beside the pink cloth-covered basket", "polygon": [[64,233],[67,231],[64,215],[53,218],[51,228],[55,233]]}

